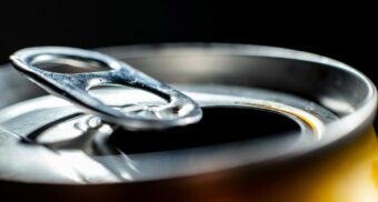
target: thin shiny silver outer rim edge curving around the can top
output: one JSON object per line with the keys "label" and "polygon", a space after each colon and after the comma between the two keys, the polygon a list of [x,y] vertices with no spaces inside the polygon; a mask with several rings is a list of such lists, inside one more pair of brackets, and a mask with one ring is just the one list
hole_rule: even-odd
{"label": "thin shiny silver outer rim edge curving around the can top", "polygon": [[[263,57],[263,58],[278,58],[278,59],[288,59],[288,60],[297,60],[302,62],[311,62],[321,65],[326,65],[336,70],[342,70],[349,74],[356,77],[359,81],[364,83],[364,88],[366,88],[367,93],[362,101],[359,103],[358,109],[354,111],[351,114],[348,114],[341,118],[340,121],[331,123],[328,129],[328,134],[326,138],[319,141],[317,144],[301,144],[292,147],[290,151],[279,154],[273,159],[265,160],[261,163],[269,163],[272,160],[277,159],[292,159],[297,156],[302,156],[312,151],[318,150],[319,148],[335,145],[337,143],[344,142],[346,140],[352,140],[354,138],[361,134],[360,132],[367,130],[375,118],[377,110],[377,89],[374,83],[361,72],[355,70],[348,64],[339,62],[337,60],[332,60],[326,57],[321,57],[318,54],[312,54],[302,51],[296,51],[290,49],[282,48],[273,48],[273,47],[265,47],[265,46],[251,46],[251,44],[228,44],[228,43],[165,43],[165,44],[142,44],[142,46],[125,46],[125,47],[110,47],[110,48],[101,48],[97,49],[101,52],[108,53],[116,58],[146,58],[146,57],[171,57],[171,55],[188,55],[198,54],[201,55],[206,52],[206,54],[215,54],[215,55],[246,55],[246,57]],[[246,164],[238,164],[235,166],[243,166],[250,165],[250,162],[245,162]],[[227,168],[227,169],[232,169]],[[218,169],[217,171],[222,171],[225,169]],[[213,172],[213,171],[211,171]],[[135,182],[140,181],[153,181],[161,179],[171,179],[171,178],[182,178],[182,176],[192,176],[193,174],[202,174],[199,173],[188,173],[181,175],[172,175],[172,176],[162,176],[160,179],[138,179]],[[103,183],[102,183],[103,184]],[[106,184],[106,183],[105,183]]]}

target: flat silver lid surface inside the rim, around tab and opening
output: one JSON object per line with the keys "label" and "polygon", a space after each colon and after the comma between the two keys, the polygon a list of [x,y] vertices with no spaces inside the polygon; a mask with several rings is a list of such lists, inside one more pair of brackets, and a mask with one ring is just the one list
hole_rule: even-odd
{"label": "flat silver lid surface inside the rim, around tab and opening", "polygon": [[[297,122],[300,133],[286,131],[287,133],[275,139],[261,138],[181,151],[129,154],[109,144],[108,138],[113,132],[110,125],[97,124],[96,118],[80,114],[69,102],[47,95],[0,111],[3,118],[0,119],[1,128],[16,134],[18,139],[3,143],[0,148],[0,164],[8,163],[8,166],[0,166],[0,179],[12,176],[13,180],[26,182],[97,184],[193,175],[302,151],[321,141],[326,125],[338,120],[334,113],[314,102],[273,91],[225,85],[176,88],[193,98],[203,109],[227,107],[279,113]],[[93,93],[109,105],[128,105],[143,100],[158,101],[157,98],[137,90],[109,88]],[[131,99],[120,99],[128,95]],[[21,108],[27,111],[21,111]],[[28,124],[30,120],[32,124]],[[53,124],[48,124],[49,122]],[[251,132],[252,125],[251,123]],[[127,137],[127,132],[125,133]],[[12,137],[7,132],[3,135]],[[33,141],[22,143],[26,142],[24,139]],[[126,140],[132,141],[131,138]],[[26,153],[32,153],[33,158],[30,159]],[[12,161],[16,156],[18,161]],[[29,169],[11,169],[23,168],[26,163],[36,165]],[[51,169],[51,165],[60,169]]]}

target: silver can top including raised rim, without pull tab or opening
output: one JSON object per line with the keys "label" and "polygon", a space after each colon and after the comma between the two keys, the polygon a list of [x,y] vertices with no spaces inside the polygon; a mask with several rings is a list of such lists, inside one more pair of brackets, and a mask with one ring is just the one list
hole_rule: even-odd
{"label": "silver can top including raised rim, without pull tab or opening", "polygon": [[[0,135],[4,147],[0,159],[11,162],[12,166],[2,168],[3,179],[69,184],[163,179],[187,182],[188,178],[198,179],[203,173],[207,176],[237,173],[338,148],[361,135],[361,131],[371,125],[376,112],[376,89],[365,75],[344,63],[300,51],[237,44],[137,46],[100,51],[153,78],[177,83],[201,107],[279,112],[297,121],[301,131],[259,141],[151,153],[113,153],[103,143],[111,135],[112,125],[99,128],[101,124],[96,119],[78,115],[82,111],[57,98],[29,100],[41,95],[41,91],[4,68],[0,73],[2,94],[7,98],[1,100]],[[20,91],[9,88],[11,84],[20,87]],[[130,98],[128,93],[138,92],[107,90],[97,95],[103,101],[109,99],[107,102],[111,105],[146,100],[160,103],[147,94],[121,99],[121,93]],[[59,130],[67,130],[70,135],[61,135]],[[209,135],[217,138],[217,134]],[[103,145],[100,147],[103,150],[97,153],[88,141]],[[13,161],[30,153],[36,159]],[[34,165],[33,169],[18,169],[30,165]]]}

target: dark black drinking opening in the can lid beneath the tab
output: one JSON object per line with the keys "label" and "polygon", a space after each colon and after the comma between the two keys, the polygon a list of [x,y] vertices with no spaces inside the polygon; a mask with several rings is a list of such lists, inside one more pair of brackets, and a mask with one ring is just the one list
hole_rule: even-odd
{"label": "dark black drinking opening in the can lid beneath the tab", "polygon": [[[269,125],[269,127],[267,127]],[[205,108],[199,123],[162,131],[118,129],[109,143],[125,153],[145,153],[213,145],[263,137],[300,134],[292,119],[251,108]]]}

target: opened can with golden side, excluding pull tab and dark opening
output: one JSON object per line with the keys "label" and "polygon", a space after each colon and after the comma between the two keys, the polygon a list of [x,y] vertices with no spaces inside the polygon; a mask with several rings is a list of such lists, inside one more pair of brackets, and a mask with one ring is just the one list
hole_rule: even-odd
{"label": "opened can with golden side, excluding pull tab and dark opening", "polygon": [[[196,131],[170,129],[183,129],[171,135],[178,137],[175,141],[163,139],[163,131],[152,131],[138,142],[133,138],[143,131],[117,130],[64,100],[41,97],[44,91],[7,64],[0,68],[0,188],[11,189],[12,196],[26,191],[28,198],[51,193],[49,201],[61,193],[69,193],[71,201],[78,195],[115,201],[377,201],[378,141],[371,129],[377,90],[349,65],[317,54],[245,44],[131,46],[100,52],[172,83],[196,100],[205,119],[191,127],[208,119],[206,108],[229,107],[277,112],[296,121],[300,131],[133,152],[128,147],[176,144]],[[147,92],[113,87],[96,89],[91,95],[119,108],[162,103]],[[206,134],[211,140],[225,133],[235,137],[242,120],[248,120],[243,131],[257,133],[259,125],[229,114],[217,114],[216,120],[197,130],[195,141]],[[276,124],[269,120],[260,125]],[[226,128],[231,130],[225,132]]]}

